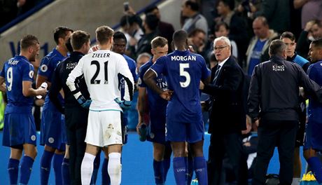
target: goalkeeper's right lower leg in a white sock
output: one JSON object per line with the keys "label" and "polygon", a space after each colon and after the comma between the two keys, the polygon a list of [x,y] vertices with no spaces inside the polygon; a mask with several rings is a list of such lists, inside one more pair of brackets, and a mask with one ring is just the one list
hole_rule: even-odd
{"label": "goalkeeper's right lower leg in a white sock", "polygon": [[107,170],[111,179],[111,185],[119,185],[121,182],[122,165],[120,163],[122,144],[113,144],[108,146],[109,150],[104,153],[109,156],[109,165]]}

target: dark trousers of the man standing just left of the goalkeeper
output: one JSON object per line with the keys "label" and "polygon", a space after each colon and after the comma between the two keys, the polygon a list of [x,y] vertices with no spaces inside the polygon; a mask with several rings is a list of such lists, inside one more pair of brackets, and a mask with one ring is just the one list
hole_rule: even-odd
{"label": "dark trousers of the man standing just left of the goalkeeper", "polygon": [[80,179],[80,166],[85,154],[87,127],[83,126],[77,129],[67,129],[69,140],[69,172],[71,175],[71,184],[82,184]]}

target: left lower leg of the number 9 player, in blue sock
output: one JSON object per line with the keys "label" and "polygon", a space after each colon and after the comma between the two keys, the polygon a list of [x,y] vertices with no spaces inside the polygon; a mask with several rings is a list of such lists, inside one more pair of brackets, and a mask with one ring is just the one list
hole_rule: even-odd
{"label": "left lower leg of the number 9 player, in blue sock", "polygon": [[22,147],[21,149],[10,147],[10,158],[8,162],[10,184],[18,184],[18,172],[21,156]]}

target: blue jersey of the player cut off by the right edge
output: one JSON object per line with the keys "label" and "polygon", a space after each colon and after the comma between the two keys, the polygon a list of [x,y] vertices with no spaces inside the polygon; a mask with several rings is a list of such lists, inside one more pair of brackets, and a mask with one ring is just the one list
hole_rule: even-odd
{"label": "blue jersey of the player cut off by the right edge", "polygon": [[[307,74],[311,80],[322,85],[322,61],[311,64],[307,69]],[[313,98],[309,98],[308,116],[309,121],[322,122],[322,104]]]}

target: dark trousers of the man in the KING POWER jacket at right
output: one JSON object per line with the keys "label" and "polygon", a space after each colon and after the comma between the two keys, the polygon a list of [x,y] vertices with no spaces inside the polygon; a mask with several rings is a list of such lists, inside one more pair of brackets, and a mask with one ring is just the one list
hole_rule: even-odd
{"label": "dark trousers of the man in the KING POWER jacket at right", "polygon": [[269,160],[279,150],[280,184],[292,184],[293,154],[298,121],[260,121],[258,148],[252,184],[265,184]]}

